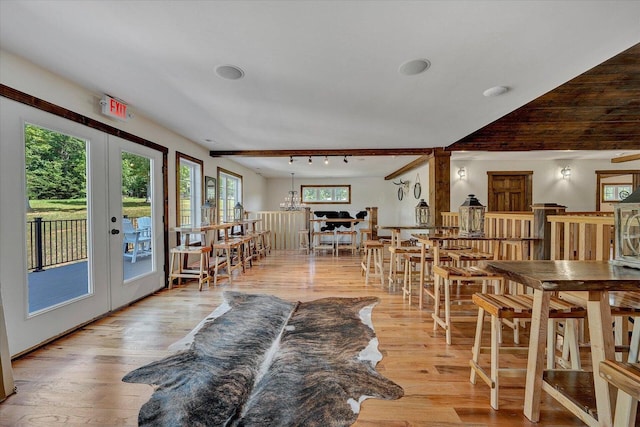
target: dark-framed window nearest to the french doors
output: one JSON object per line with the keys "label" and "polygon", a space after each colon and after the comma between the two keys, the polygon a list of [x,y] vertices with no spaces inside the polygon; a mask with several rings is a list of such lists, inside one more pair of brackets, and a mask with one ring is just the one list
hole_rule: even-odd
{"label": "dark-framed window nearest to the french doors", "polygon": [[176,224],[200,225],[202,205],[202,160],[176,153]]}

